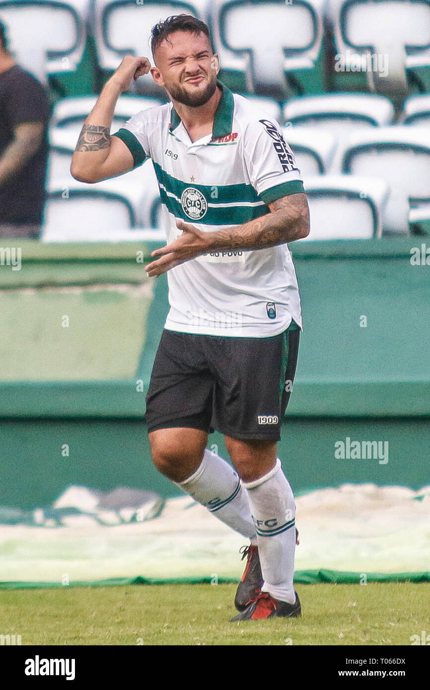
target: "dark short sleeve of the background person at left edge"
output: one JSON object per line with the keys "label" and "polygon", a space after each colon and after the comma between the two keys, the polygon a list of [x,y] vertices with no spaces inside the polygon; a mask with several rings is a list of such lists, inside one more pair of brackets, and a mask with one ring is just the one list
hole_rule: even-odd
{"label": "dark short sleeve of the background person at left edge", "polygon": [[8,89],[5,108],[12,128],[25,122],[44,122],[51,114],[48,94],[29,72],[21,71],[13,88]]}

